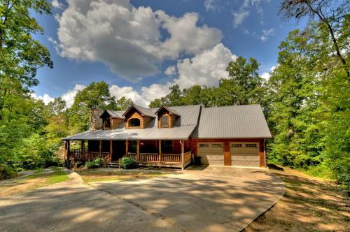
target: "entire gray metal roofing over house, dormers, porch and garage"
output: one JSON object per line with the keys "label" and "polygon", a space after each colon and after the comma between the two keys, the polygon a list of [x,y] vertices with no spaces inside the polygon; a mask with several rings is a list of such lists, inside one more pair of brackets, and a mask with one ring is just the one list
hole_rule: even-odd
{"label": "entire gray metal roofing over house, dormers, porch and garage", "polygon": [[[137,107],[138,110],[146,108]],[[181,140],[193,138],[271,138],[269,127],[260,105],[203,108],[172,106],[170,110],[181,115],[173,128],[158,128],[157,117],[146,129],[125,129],[125,124],[113,130],[85,131],[63,140]],[[155,115],[159,108],[144,110]],[[110,110],[111,111],[111,110]],[[145,112],[147,111],[147,112]],[[120,115],[114,111],[110,114]],[[154,117],[154,116],[153,116]]]}

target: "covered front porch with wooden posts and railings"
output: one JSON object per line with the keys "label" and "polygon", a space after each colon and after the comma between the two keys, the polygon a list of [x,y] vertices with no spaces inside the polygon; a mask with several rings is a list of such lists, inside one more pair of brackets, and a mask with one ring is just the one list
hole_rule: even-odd
{"label": "covered front porch with wooden posts and railings", "polygon": [[73,143],[71,140],[66,140],[65,142],[67,161],[92,161],[102,158],[106,163],[116,163],[123,157],[132,157],[140,166],[174,168],[186,168],[192,161],[190,140],[75,140]]}

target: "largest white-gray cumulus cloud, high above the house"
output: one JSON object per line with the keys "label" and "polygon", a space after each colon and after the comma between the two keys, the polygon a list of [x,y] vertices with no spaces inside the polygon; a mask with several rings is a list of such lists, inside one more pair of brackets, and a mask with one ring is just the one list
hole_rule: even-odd
{"label": "largest white-gray cumulus cloud, high above the house", "polygon": [[[128,80],[158,73],[164,59],[177,59],[181,52],[196,55],[212,48],[221,31],[197,26],[197,13],[172,17],[150,7],[135,8],[128,0],[67,0],[57,17],[62,57],[99,61]],[[169,36],[162,38],[160,29]]]}

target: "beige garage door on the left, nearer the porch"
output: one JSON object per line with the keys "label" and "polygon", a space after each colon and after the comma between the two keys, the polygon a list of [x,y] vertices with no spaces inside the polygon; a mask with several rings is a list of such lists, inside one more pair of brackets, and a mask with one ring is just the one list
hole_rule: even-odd
{"label": "beige garage door on the left, nearer the porch", "polygon": [[198,143],[198,154],[204,165],[224,165],[223,143]]}

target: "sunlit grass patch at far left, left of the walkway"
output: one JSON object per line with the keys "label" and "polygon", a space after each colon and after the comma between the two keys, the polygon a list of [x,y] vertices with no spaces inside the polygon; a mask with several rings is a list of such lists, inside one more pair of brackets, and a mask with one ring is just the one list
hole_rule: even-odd
{"label": "sunlit grass patch at far left, left of the walkway", "polygon": [[56,184],[58,182],[64,182],[66,180],[68,180],[68,175],[66,175],[66,172],[62,171],[61,168],[50,168],[50,171],[36,170],[32,175],[1,181],[0,198],[21,194],[26,191]]}

